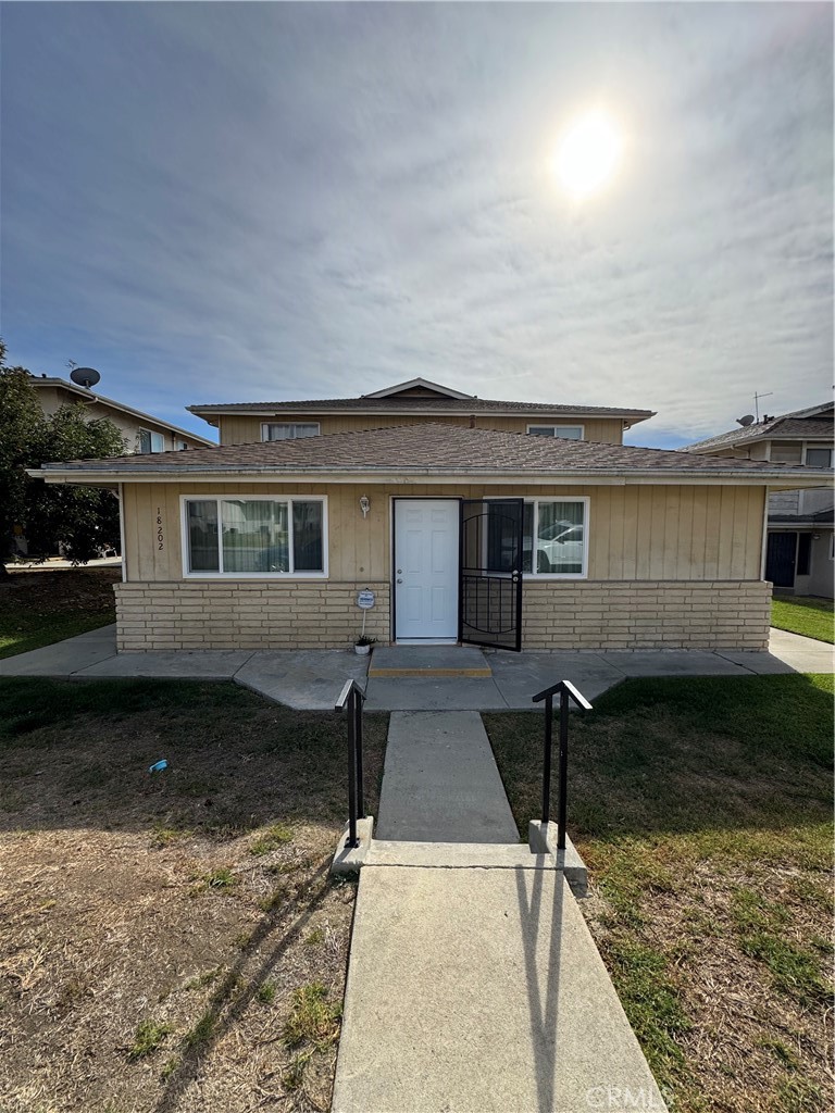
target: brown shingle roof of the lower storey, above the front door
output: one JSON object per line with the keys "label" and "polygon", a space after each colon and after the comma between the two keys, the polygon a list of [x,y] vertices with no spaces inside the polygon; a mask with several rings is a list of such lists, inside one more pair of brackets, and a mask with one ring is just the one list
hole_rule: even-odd
{"label": "brown shingle roof of the lower storey, above the front door", "polygon": [[327,472],[400,471],[509,475],[562,473],[659,473],[701,472],[709,474],[799,472],[816,469],[797,464],[772,464],[757,460],[704,456],[666,449],[598,444],[557,437],[500,433],[428,422],[356,433],[332,433],[297,441],[189,449],[147,455],[112,456],[45,464],[55,471],[130,472]]}

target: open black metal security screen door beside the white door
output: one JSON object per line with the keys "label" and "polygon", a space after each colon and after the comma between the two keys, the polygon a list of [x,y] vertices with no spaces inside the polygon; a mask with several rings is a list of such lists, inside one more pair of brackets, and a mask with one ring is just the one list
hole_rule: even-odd
{"label": "open black metal security screen door beside the white door", "polygon": [[461,501],[459,638],[522,648],[522,499]]}

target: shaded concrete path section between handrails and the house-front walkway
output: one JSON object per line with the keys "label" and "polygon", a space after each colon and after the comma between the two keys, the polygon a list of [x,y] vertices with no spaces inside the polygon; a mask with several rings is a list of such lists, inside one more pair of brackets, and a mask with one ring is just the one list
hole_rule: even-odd
{"label": "shaded concrete path section between handrails and the house-front walkway", "polygon": [[375,836],[409,843],[519,843],[477,711],[392,713]]}

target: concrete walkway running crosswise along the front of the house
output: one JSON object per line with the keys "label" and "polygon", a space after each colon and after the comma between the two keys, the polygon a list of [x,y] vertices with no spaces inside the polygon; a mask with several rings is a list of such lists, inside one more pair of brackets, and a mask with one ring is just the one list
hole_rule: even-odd
{"label": "concrete walkway running crosswise along the front of the house", "polygon": [[[367,679],[370,711],[530,710],[531,696],[556,679],[569,678],[588,698],[627,677],[752,676],[832,672],[833,647],[799,634],[772,630],[769,653],[678,650],[610,653],[510,653],[468,649],[490,676],[379,676]],[[373,660],[372,654],[372,660]],[[116,652],[116,627],[102,627],[29,653],[0,661],[0,677],[195,678],[235,680],[279,703],[326,711],[348,677],[366,678],[367,657],[343,650],[177,650]]]}

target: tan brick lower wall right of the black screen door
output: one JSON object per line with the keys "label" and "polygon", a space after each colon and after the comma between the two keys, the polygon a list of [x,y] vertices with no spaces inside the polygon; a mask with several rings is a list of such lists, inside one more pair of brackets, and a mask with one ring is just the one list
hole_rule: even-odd
{"label": "tan brick lower wall right of the black screen door", "polygon": [[754,581],[528,580],[522,649],[763,650],[770,599]]}

